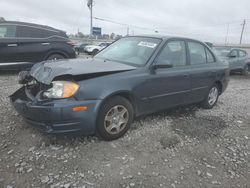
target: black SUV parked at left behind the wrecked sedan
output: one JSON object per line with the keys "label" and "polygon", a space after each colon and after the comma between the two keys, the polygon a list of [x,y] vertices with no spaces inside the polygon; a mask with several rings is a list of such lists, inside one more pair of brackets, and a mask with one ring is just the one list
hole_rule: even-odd
{"label": "black SUV parked at left behind the wrecked sedan", "polygon": [[24,22],[0,22],[0,69],[31,67],[44,60],[75,58],[64,31]]}

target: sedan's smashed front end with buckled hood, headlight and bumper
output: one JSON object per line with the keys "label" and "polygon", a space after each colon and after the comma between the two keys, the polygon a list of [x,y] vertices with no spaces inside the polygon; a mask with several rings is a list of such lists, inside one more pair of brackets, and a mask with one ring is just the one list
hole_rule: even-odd
{"label": "sedan's smashed front end with buckled hood, headlight and bumper", "polygon": [[102,100],[78,98],[80,82],[134,69],[100,60],[37,63],[30,72],[19,73],[18,82],[23,86],[10,100],[25,121],[43,132],[93,134]]}

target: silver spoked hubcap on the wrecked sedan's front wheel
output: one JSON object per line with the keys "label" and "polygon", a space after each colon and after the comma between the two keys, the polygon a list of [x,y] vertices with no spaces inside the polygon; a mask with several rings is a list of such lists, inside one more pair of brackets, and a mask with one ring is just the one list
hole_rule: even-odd
{"label": "silver spoked hubcap on the wrecked sedan's front wheel", "polygon": [[124,130],[128,120],[128,110],[122,105],[117,105],[111,108],[106,114],[104,128],[109,134],[118,134]]}

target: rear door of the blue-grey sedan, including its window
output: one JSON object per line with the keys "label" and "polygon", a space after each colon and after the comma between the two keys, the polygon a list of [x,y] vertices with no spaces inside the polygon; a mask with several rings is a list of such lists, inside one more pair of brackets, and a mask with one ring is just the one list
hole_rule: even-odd
{"label": "rear door of the blue-grey sedan, including its window", "polygon": [[213,53],[202,43],[188,41],[191,77],[190,102],[202,101],[216,79],[216,61]]}

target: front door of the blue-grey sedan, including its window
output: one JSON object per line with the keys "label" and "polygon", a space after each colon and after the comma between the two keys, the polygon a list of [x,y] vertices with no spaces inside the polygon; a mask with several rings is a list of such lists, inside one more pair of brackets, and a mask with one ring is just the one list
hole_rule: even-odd
{"label": "front door of the blue-grey sedan, including its window", "polygon": [[[185,42],[172,40],[156,58],[158,65],[147,81],[147,100],[152,111],[185,104],[190,92],[190,69]],[[164,66],[165,65],[165,66]]]}

